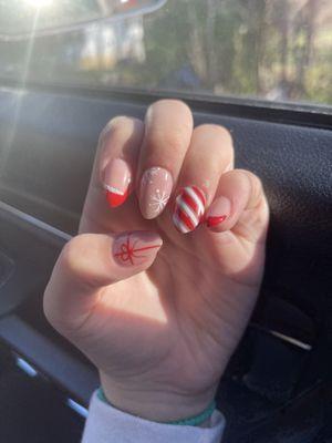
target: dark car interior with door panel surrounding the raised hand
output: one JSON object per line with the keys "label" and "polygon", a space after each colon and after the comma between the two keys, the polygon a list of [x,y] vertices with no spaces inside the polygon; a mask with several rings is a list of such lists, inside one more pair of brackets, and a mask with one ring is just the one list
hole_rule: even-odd
{"label": "dark car interior with door panel surrounding the raised hand", "polygon": [[[176,8],[159,3],[111,25]],[[331,4],[320,4],[331,18]],[[0,58],[8,66],[9,48],[27,50],[29,31],[20,39],[7,32]],[[34,66],[43,39],[56,40],[59,52],[65,32],[83,31],[56,32],[41,30]],[[331,39],[329,48],[331,75]],[[237,167],[261,177],[271,208],[259,302],[218,389],[222,443],[332,442],[331,76],[322,74],[330,95],[317,103],[200,91],[187,71],[176,87],[170,75],[162,79],[165,89],[143,89],[127,80],[92,84],[86,71],[74,82],[66,69],[71,82],[50,81],[50,66],[44,79],[38,68],[35,75],[0,72],[0,442],[80,442],[97,371],[48,323],[42,296],[60,250],[77,233],[100,132],[116,115],[144,119],[162,97],[184,100],[195,125],[230,131]]]}

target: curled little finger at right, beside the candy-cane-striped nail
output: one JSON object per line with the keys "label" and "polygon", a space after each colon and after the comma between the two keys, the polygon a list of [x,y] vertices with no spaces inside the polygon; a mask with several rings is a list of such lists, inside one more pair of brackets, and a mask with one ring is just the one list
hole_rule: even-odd
{"label": "curled little finger at right, beside the candy-cane-striped nail", "polygon": [[[217,233],[232,230],[257,240],[268,224],[269,210],[260,179],[249,171],[235,169],[220,177],[206,226]],[[255,237],[255,238],[253,238]]]}

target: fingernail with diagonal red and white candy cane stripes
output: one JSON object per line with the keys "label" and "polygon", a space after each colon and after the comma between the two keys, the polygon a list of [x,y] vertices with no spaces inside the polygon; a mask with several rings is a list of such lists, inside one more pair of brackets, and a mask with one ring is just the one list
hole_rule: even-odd
{"label": "fingernail with diagonal red and white candy cane stripes", "polygon": [[183,234],[190,233],[200,223],[205,213],[206,197],[197,186],[184,187],[175,200],[173,223]]}

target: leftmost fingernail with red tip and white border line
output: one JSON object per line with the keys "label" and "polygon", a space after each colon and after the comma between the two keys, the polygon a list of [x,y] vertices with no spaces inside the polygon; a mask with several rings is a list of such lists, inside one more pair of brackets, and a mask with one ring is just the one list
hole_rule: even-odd
{"label": "leftmost fingernail with red tip and white border line", "polygon": [[132,179],[129,166],[122,158],[114,158],[104,172],[104,188],[111,207],[122,205],[128,196]]}

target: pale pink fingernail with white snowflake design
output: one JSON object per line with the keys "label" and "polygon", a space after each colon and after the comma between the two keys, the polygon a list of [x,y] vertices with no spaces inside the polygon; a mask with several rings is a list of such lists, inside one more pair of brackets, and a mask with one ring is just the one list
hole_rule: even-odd
{"label": "pale pink fingernail with white snowflake design", "polygon": [[167,205],[173,188],[173,178],[163,167],[145,171],[141,181],[139,206],[143,217],[157,217]]}

